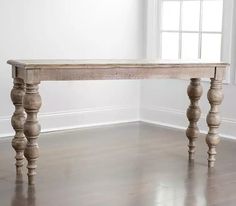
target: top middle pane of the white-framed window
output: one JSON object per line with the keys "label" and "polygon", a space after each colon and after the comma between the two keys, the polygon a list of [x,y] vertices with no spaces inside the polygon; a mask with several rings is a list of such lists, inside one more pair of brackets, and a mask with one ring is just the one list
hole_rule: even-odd
{"label": "top middle pane of the white-framed window", "polygon": [[182,30],[198,31],[200,21],[200,1],[183,1]]}

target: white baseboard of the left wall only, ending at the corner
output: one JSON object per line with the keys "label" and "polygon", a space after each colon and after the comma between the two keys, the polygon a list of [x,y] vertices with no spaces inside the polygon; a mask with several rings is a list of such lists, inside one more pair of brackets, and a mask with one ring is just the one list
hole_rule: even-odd
{"label": "white baseboard of the left wall only, ending at the corner", "polygon": [[[89,108],[39,115],[42,132],[134,122],[139,119],[139,109],[130,106]],[[0,138],[14,135],[11,117],[0,119],[0,131]]]}

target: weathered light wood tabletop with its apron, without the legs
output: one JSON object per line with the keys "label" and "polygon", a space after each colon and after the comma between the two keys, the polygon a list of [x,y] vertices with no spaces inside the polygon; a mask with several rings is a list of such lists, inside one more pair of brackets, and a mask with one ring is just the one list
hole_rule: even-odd
{"label": "weathered light wood tabletop with its apron, without the legs", "polygon": [[[105,80],[224,77],[225,63],[150,60],[9,60],[13,77],[26,83],[50,80]],[[218,71],[216,72],[216,69]]]}

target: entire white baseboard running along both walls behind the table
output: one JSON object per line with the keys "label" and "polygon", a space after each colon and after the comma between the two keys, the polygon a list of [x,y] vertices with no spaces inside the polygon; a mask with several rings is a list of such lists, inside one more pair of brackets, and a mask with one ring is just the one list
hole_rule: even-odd
{"label": "entire white baseboard running along both walls behind the table", "polygon": [[[207,133],[206,115],[199,120],[202,133]],[[14,131],[10,123],[11,117],[0,118],[0,138],[12,137]],[[101,126],[116,123],[143,121],[147,123],[185,130],[188,121],[184,111],[165,108],[100,107],[82,110],[62,111],[57,113],[44,113],[39,115],[42,132],[51,132],[82,127]],[[236,139],[236,119],[223,118],[221,136]]]}

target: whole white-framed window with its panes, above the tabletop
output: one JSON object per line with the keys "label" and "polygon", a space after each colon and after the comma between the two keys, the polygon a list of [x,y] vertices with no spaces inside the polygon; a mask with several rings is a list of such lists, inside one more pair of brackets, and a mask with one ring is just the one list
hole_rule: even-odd
{"label": "whole white-framed window with its panes, above the tabletop", "polygon": [[230,62],[234,0],[148,0],[147,58]]}

